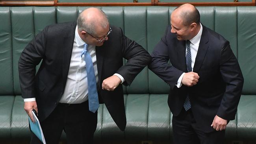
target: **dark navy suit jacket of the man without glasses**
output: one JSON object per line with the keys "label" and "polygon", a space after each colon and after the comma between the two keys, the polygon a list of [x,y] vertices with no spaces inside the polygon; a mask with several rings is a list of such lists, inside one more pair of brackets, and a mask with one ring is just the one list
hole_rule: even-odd
{"label": "dark navy suit jacket of the man without glasses", "polygon": [[[170,31],[171,26],[152,52],[149,68],[170,85],[168,105],[173,116],[180,114],[189,94],[191,110],[198,127],[203,131],[213,131],[210,125],[216,114],[226,120],[234,120],[243,87],[243,76],[229,42],[203,26],[193,68],[193,72],[200,77],[199,81],[193,87],[182,85],[177,88],[175,85],[178,78],[183,72],[187,72],[186,41],[178,41],[176,34]],[[169,60],[171,65],[167,63]]]}

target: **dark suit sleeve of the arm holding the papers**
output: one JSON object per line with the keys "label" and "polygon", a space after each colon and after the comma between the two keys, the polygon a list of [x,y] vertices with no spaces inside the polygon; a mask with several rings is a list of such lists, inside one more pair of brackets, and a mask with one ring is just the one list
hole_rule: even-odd
{"label": "dark suit sleeve of the arm holding the papers", "polygon": [[19,59],[19,80],[22,98],[35,98],[35,67],[43,59],[46,45],[46,27],[23,50]]}

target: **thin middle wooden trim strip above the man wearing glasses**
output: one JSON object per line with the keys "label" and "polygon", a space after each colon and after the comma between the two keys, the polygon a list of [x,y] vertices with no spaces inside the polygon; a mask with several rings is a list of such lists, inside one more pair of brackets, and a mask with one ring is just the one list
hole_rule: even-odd
{"label": "thin middle wooden trim strip above the man wearing glasses", "polygon": [[136,3],[129,3],[129,2],[122,2],[122,3],[57,3],[54,6],[154,6],[154,4],[150,2],[136,2]]}

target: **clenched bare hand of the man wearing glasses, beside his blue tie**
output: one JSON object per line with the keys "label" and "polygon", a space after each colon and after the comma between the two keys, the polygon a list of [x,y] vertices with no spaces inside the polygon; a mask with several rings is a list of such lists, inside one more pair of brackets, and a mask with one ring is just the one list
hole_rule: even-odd
{"label": "clenched bare hand of the man wearing glasses, beside his blue tie", "polygon": [[122,81],[118,76],[113,75],[113,76],[103,80],[102,89],[108,90],[108,91],[110,91],[110,90],[113,91],[121,82]]}

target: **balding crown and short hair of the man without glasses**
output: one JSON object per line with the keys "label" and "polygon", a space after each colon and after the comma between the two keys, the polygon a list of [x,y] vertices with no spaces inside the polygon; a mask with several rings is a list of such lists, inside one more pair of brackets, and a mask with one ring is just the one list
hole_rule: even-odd
{"label": "balding crown and short hair of the man without glasses", "polygon": [[182,19],[182,24],[184,26],[189,26],[193,22],[196,24],[200,23],[200,14],[197,8],[191,4],[183,4],[172,13],[173,17],[178,17]]}

